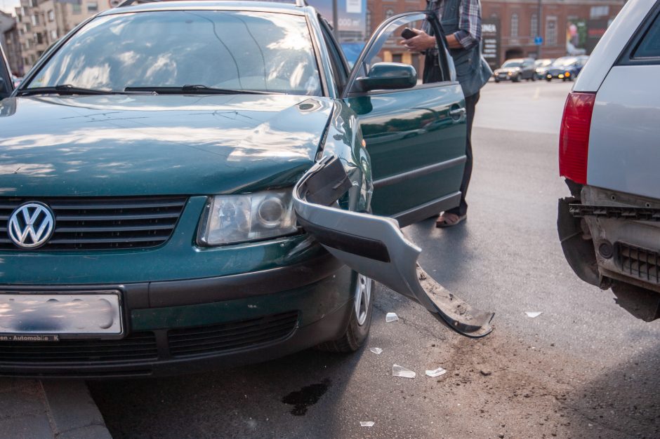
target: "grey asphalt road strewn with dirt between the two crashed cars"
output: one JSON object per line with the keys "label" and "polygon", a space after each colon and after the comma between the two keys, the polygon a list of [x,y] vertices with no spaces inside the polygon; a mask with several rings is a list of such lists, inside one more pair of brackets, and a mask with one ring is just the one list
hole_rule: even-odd
{"label": "grey asphalt road strewn with dirt between the two crashed cars", "polygon": [[[113,435],[660,437],[660,323],[636,320],[611,291],[579,281],[557,241],[557,198],[567,195],[557,133],[569,88],[484,88],[468,220],[454,229],[430,220],[404,229],[437,281],[496,312],[489,337],[460,337],[378,287],[367,349],[352,356],[305,351],[194,376],[90,383]],[[388,311],[400,320],[385,323]],[[369,351],[376,346],[383,353]],[[393,363],[416,378],[392,377]],[[440,366],[447,374],[425,376]],[[296,398],[303,404],[283,402]]]}

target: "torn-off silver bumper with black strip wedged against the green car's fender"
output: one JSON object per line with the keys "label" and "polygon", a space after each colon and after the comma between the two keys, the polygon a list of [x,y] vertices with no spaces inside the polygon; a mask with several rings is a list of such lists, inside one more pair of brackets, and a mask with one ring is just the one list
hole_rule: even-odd
{"label": "torn-off silver bumper with black strip wedged against the green car's fender", "polygon": [[350,186],[338,158],[316,163],[293,189],[298,222],[351,269],[418,302],[461,335],[488,335],[494,313],[473,308],[428,276],[417,264],[421,248],[407,240],[395,219],[338,207]]}

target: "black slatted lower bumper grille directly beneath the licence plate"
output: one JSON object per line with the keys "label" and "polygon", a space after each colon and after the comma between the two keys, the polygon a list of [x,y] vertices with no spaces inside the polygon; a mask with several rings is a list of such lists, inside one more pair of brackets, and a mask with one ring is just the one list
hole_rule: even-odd
{"label": "black slatted lower bumper grille directly beneath the licence plate", "polygon": [[121,340],[61,340],[59,342],[0,342],[0,363],[133,363],[156,360],[153,332],[136,332]]}

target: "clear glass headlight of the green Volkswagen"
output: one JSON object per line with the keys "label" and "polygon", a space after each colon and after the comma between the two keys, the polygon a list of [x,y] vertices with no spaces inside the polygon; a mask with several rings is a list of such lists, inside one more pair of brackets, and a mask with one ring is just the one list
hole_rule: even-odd
{"label": "clear glass headlight of the green Volkswagen", "polygon": [[197,244],[225,245],[293,234],[296,213],[292,190],[209,197],[204,208]]}

